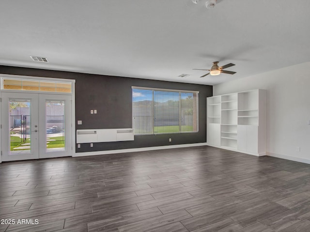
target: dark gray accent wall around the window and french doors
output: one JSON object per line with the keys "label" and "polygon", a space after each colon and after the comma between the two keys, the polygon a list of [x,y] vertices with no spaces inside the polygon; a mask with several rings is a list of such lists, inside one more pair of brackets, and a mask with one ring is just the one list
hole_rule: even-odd
{"label": "dark gray accent wall around the window and french doors", "polygon": [[[94,143],[93,147],[81,144],[81,148],[76,147],[76,152],[206,142],[206,98],[212,96],[212,86],[11,66],[0,66],[0,73],[75,79],[76,130],[132,128],[132,86],[199,91],[197,133],[136,135],[134,141]],[[91,115],[91,109],[96,109],[97,114]],[[77,120],[82,120],[83,124],[78,125]]]}

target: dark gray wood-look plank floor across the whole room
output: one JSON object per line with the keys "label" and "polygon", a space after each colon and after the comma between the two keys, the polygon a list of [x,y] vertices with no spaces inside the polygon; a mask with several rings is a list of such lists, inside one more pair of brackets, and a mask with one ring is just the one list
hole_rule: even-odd
{"label": "dark gray wood-look plank floor across the whole room", "polygon": [[310,165],[209,146],[4,162],[0,218],[16,220],[1,232],[309,232]]}

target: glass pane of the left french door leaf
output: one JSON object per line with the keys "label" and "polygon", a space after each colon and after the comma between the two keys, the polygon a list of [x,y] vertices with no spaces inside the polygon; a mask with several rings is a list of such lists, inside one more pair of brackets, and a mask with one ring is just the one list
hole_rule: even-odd
{"label": "glass pane of the left french door leaf", "polygon": [[10,99],[10,155],[31,152],[31,100]]}

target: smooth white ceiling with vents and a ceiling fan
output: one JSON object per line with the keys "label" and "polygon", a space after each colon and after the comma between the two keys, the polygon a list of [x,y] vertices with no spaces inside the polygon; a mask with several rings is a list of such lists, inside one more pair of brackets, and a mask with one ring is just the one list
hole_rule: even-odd
{"label": "smooth white ceiling with vents and a ceiling fan", "polygon": [[0,64],[215,85],[310,61],[309,0],[205,1],[0,0]]}

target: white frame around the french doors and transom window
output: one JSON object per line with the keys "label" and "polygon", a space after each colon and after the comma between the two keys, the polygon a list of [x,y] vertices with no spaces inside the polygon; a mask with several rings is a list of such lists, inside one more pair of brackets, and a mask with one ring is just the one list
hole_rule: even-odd
{"label": "white frame around the french doors and transom window", "polygon": [[[23,80],[36,80],[36,81],[52,81],[52,82],[62,82],[62,83],[71,83],[72,89],[71,93],[57,93],[57,92],[42,92],[42,91],[25,91],[25,90],[8,90],[3,89],[2,79],[13,78],[13,79],[23,79]],[[76,80],[71,79],[62,79],[62,78],[49,78],[49,77],[35,77],[35,76],[23,76],[23,75],[10,75],[10,74],[0,74],[1,87],[0,87],[0,97],[2,92],[16,92],[16,93],[38,93],[38,94],[55,94],[55,95],[71,95],[71,123],[72,123],[72,156],[76,153],[76,128],[75,128],[75,82]],[[1,118],[1,107],[0,107],[0,123],[2,125]],[[2,129],[0,132],[0,145],[2,147]],[[0,163],[2,162],[2,156],[0,155]]]}

